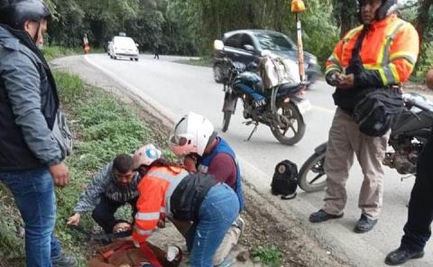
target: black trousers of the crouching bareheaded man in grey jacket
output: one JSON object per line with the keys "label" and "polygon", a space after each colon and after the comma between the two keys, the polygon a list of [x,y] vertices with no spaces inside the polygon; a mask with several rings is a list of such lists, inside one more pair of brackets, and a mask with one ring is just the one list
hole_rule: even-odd
{"label": "black trousers of the crouching bareheaded man in grey jacket", "polygon": [[104,232],[106,232],[106,234],[112,234],[113,227],[118,222],[123,221],[115,218],[115,211],[117,210],[117,208],[124,206],[126,203],[129,203],[133,208],[134,220],[135,213],[137,212],[137,199],[138,198],[134,198],[133,200],[128,202],[116,202],[109,198],[106,198],[106,196],[102,196],[101,201],[92,212],[92,217],[97,222],[97,225],[101,226],[104,229]]}

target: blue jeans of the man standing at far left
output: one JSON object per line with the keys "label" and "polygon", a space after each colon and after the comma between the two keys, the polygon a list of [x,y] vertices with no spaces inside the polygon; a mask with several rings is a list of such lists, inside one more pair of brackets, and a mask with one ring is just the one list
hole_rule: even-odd
{"label": "blue jeans of the man standing at far left", "polygon": [[0,172],[0,181],[11,190],[25,225],[26,266],[50,267],[61,256],[53,235],[56,197],[51,173],[46,168]]}

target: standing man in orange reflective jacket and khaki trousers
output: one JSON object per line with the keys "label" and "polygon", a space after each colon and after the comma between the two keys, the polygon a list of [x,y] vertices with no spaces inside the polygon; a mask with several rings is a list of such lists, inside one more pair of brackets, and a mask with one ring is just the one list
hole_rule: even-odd
{"label": "standing man in orange reflective jacket and khaki trousers", "polygon": [[[337,109],[324,166],[325,205],[311,214],[309,221],[319,223],[343,216],[345,184],[356,154],[364,182],[358,203],[362,214],[355,232],[365,233],[375,226],[382,210],[382,160],[391,123],[380,136],[364,134],[361,124],[354,121],[355,106],[361,103],[360,97],[365,97],[367,89],[373,94],[387,92],[401,99],[400,84],[410,78],[418,58],[419,37],[410,23],[397,16],[396,0],[360,0],[358,4],[363,25],[345,34],[326,63],[327,83],[336,87],[333,97]],[[402,100],[398,106],[402,107]],[[373,117],[373,125],[374,120]]]}

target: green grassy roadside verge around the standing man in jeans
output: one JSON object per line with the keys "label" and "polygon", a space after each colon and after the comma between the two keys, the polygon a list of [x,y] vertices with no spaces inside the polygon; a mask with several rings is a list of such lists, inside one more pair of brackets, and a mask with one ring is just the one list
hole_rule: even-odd
{"label": "green grassy roadside verge around the standing man in jeans", "polygon": [[[56,189],[58,220],[56,235],[59,236],[63,249],[78,256],[80,266],[87,266],[86,257],[91,249],[86,244],[79,244],[80,236],[66,227],[66,219],[72,215],[72,209],[79,195],[87,187],[92,175],[115,154],[133,152],[144,143],[156,143],[150,126],[138,117],[137,110],[123,106],[121,102],[102,89],[84,85],[75,75],[55,72],[61,103],[69,117],[69,124],[75,138],[74,152],[67,159],[71,181],[65,189]],[[172,157],[170,152],[164,152]],[[13,266],[13,259],[18,259],[17,266],[23,263],[23,226],[19,213],[15,210],[14,200],[9,191],[0,184],[0,259],[8,259],[8,266]],[[127,218],[129,207],[118,214]],[[90,216],[84,216],[81,223],[89,231],[95,226]],[[6,253],[7,252],[7,253]],[[16,261],[16,260],[15,260]]]}

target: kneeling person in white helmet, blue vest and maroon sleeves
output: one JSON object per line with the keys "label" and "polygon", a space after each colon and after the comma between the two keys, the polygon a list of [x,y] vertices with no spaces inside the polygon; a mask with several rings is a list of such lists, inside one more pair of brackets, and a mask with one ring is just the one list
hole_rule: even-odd
{"label": "kneeling person in white helmet, blue vest and maroon sleeves", "polygon": [[[217,136],[214,125],[206,117],[193,112],[183,116],[170,136],[170,150],[184,156],[184,165],[189,172],[212,174],[218,182],[234,189],[239,200],[239,212],[244,209],[241,170],[235,152]],[[227,255],[238,243],[243,227],[244,220],[238,216],[214,255],[214,265],[226,264]]]}

